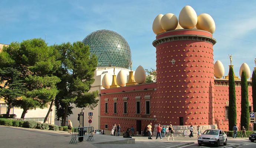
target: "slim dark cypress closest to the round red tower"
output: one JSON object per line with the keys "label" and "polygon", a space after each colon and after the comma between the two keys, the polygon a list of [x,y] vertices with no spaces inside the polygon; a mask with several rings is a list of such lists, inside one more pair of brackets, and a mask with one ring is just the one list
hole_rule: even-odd
{"label": "slim dark cypress closest to the round red tower", "polygon": [[233,67],[229,68],[229,131],[236,125],[236,90]]}

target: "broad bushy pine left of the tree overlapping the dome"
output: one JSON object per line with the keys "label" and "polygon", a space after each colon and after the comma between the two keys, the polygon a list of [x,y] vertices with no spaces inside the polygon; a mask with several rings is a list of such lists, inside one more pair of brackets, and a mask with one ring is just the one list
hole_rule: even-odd
{"label": "broad bushy pine left of the tree overlapping the dome", "polygon": [[27,110],[45,107],[57,94],[56,83],[60,80],[53,76],[60,67],[60,61],[56,60],[57,53],[41,38],[13,42],[3,48],[0,68],[18,70],[21,73],[19,80],[26,87],[26,92],[17,102],[17,106],[23,109],[21,118],[25,117]]}

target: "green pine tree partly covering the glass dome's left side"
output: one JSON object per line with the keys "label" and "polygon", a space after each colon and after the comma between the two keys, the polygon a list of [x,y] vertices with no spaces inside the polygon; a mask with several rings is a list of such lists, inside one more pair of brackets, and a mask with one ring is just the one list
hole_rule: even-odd
{"label": "green pine tree partly covering the glass dome's left side", "polygon": [[57,119],[62,118],[62,126],[66,123],[66,117],[72,114],[73,106],[76,107],[96,107],[98,91],[89,92],[91,84],[94,82],[94,71],[97,66],[97,58],[93,54],[90,56],[89,46],[85,46],[78,41],[73,44],[63,43],[54,45],[60,56],[61,67],[56,72],[56,76],[61,79],[57,87],[59,93],[56,95],[55,106]]}

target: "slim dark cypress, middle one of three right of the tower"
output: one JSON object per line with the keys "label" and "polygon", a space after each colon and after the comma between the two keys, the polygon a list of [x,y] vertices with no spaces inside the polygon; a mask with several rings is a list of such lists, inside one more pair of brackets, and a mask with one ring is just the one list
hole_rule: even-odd
{"label": "slim dark cypress, middle one of three right of the tower", "polygon": [[250,113],[249,113],[249,100],[248,100],[248,84],[246,72],[242,71],[241,76],[241,128],[249,129],[250,126]]}

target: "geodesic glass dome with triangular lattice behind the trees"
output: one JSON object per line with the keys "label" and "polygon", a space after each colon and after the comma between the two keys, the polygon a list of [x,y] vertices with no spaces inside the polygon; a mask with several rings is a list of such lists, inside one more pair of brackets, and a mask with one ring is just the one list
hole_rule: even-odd
{"label": "geodesic glass dome with triangular lattice behind the trees", "polygon": [[131,50],[127,41],[111,30],[98,30],[83,39],[89,45],[91,54],[98,57],[98,66],[116,66],[129,68]]}

